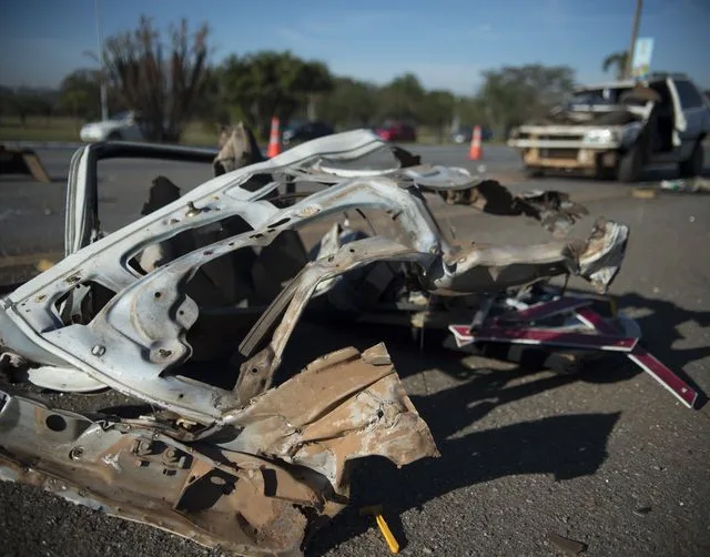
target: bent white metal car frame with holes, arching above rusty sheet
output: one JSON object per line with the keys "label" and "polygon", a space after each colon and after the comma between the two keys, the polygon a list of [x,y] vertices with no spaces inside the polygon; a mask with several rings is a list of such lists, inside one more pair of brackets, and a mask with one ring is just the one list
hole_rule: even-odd
{"label": "bent white metal car frame with holes, arching above rusty sheet", "polygon": [[[36,366],[73,374],[71,384],[109,386],[197,423],[219,425],[226,423],[226,416],[258,389],[245,387],[240,393],[240,389],[217,388],[199,381],[186,381],[179,369],[194,354],[187,336],[201,315],[200,296],[214,292],[210,287],[189,287],[201,269],[221,257],[233,256],[237,250],[265,250],[284,233],[328,216],[349,210],[377,209],[396,215],[406,245],[375,236],[369,241],[372,245],[365,243],[366,250],[357,254],[365,259],[354,264],[378,259],[398,261],[396,254],[405,250],[405,261],[413,265],[413,276],[424,292],[458,296],[560,274],[580,274],[605,291],[613,280],[626,250],[628,229],[625,225],[600,222],[588,240],[558,240],[538,246],[457,245],[440,234],[426,200],[413,182],[415,174],[404,175],[415,172],[407,169],[403,170],[404,174],[374,178],[331,175],[326,180],[327,186],[283,209],[268,200],[283,185],[278,176],[307,174],[314,162],[324,159],[354,164],[384,146],[374,134],[363,130],[314,140],[268,161],[222,174],[88,245],[87,235],[101,234],[88,216],[92,214],[91,200],[95,201],[95,191],[81,176],[93,172],[89,169],[93,169],[94,151],[103,146],[89,145],[80,150],[70,173],[73,202],[68,204],[67,241],[71,254],[0,300],[0,332],[4,344]],[[122,148],[135,152],[142,149],[133,144]],[[158,154],[166,156],[168,151]],[[204,156],[202,151],[189,152],[189,158],[195,160]],[[257,176],[266,174],[273,181],[265,185],[261,185],[262,181],[255,182]],[[439,172],[437,175],[443,176],[440,184],[444,188],[447,174]],[[458,175],[463,180],[464,174]],[[320,178],[310,176],[310,180],[317,182]],[[142,261],[150,245],[233,217],[244,223],[233,235],[220,236],[156,269],[151,265],[140,270],[132,263],[136,259]],[[311,285],[303,286],[305,290],[300,294],[307,301],[317,283],[354,269],[347,263],[353,259],[351,250],[357,249],[352,244],[343,245],[337,254],[325,262],[320,261],[321,274],[315,275],[315,282],[313,274],[303,278],[303,284],[297,283],[302,278],[294,281],[273,304],[283,304],[287,293],[295,292],[300,284]],[[332,265],[326,272],[328,260]],[[343,262],[342,266],[338,262]],[[105,291],[105,304],[101,310],[87,320],[62,318],[57,306],[74,306],[81,288],[92,283]],[[278,314],[281,306],[273,304],[265,315]],[[288,331],[295,326],[300,314],[301,311],[294,311],[288,314],[294,318],[283,320],[274,343],[290,336]],[[270,323],[275,325],[276,321],[271,318]],[[262,327],[260,338],[270,332]],[[282,348],[274,352],[276,357],[265,366],[268,371],[262,377],[261,389],[270,384],[268,376],[280,363],[280,351]],[[240,386],[245,381],[243,376],[242,373]]]}

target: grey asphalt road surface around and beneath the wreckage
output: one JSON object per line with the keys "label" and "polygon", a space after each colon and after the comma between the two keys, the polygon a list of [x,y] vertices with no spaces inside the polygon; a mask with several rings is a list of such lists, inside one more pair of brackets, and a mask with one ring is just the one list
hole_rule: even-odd
{"label": "grey asphalt road surface around and beneath the wreckage", "polygon": [[[494,175],[514,176],[519,170],[505,148],[486,149],[479,163],[468,161],[464,148],[417,151],[429,162],[486,164]],[[50,174],[63,180],[68,154],[42,156]],[[140,163],[125,170],[119,164],[125,163],[106,163],[101,172],[109,229],[138,216],[156,173],[185,189],[196,178],[209,178],[209,169],[205,174],[187,165]],[[649,180],[672,175],[659,172]],[[638,320],[645,345],[710,393],[710,196],[662,193],[639,200],[613,182],[515,182],[515,190],[569,191],[591,216],[604,214],[631,227],[611,294]],[[12,252],[4,260],[30,249],[61,249],[63,203],[60,181],[0,181],[0,245]],[[440,217],[463,240],[529,244],[548,239],[537,223],[520,217],[466,207],[445,209]],[[591,217],[575,233],[586,235],[590,226]],[[585,285],[574,281],[572,286]],[[623,358],[579,375],[555,375],[462,357],[427,344],[426,336],[420,348],[394,331],[338,336],[303,327],[298,335],[292,356],[305,359],[385,340],[442,453],[402,469],[378,458],[363,460],[352,506],[316,534],[306,555],[387,555],[373,519],[358,513],[371,504],[384,506],[402,555],[565,555],[552,535],[584,543],[589,556],[710,555],[710,406],[681,406]],[[221,554],[8,483],[0,483],[0,555]]]}

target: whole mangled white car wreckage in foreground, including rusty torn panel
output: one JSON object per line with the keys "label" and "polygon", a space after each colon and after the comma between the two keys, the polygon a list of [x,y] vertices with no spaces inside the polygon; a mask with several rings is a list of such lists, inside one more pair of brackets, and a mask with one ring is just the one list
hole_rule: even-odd
{"label": "whole mangled white car wreckage in foreground, including rusty torn panel", "polygon": [[[381,455],[403,466],[438,455],[383,344],[344,346],[278,381],[302,315],[364,314],[385,296],[443,300],[474,320],[452,327],[464,345],[505,300],[496,293],[561,275],[606,292],[623,259],[628,229],[605,220],[586,239],[528,247],[450,242],[423,191],[531,215],[558,236],[584,207],[422,164],[365,130],[254,162],[257,151],[237,126],[215,178],[182,196],[156,180],[144,215],[111,234],[98,219],[99,159],[213,153],[98,143],[74,154],[65,257],[0,297],[0,366],[43,388],[110,388],[154,411],[82,415],[0,392],[1,478],[223,550],[301,555],[305,534],[347,504],[349,460]],[[373,211],[396,233],[355,234],[335,222],[310,255],[298,243],[297,231],[314,223]],[[636,345],[611,344],[629,354]],[[216,371],[221,386],[200,369]]]}

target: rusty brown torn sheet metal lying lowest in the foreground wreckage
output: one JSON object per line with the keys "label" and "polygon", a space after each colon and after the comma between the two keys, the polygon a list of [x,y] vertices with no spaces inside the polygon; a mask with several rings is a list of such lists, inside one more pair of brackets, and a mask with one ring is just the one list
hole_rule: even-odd
{"label": "rusty brown torn sheet metal lying lowest in the foreground wreckage", "polygon": [[239,555],[302,555],[347,503],[345,464],[438,456],[383,345],[313,362],[217,439],[179,442],[150,418],[99,419],[0,392],[0,478]]}

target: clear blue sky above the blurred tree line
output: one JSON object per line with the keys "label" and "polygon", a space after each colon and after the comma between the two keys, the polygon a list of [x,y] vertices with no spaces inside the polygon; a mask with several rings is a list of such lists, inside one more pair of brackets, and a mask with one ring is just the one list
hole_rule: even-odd
{"label": "clear blue sky above the blurred tree line", "polygon": [[[336,74],[384,83],[405,71],[425,87],[473,93],[480,70],[569,64],[604,80],[606,54],[628,48],[636,0],[99,0],[104,37],[141,14],[211,28],[213,59],[290,49]],[[97,50],[95,0],[3,0],[0,83],[53,87]],[[684,71],[710,89],[710,0],[646,0],[640,37],[655,70]],[[266,8],[264,8],[266,7]]]}

